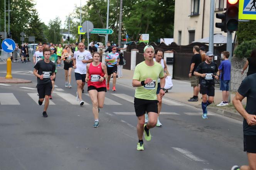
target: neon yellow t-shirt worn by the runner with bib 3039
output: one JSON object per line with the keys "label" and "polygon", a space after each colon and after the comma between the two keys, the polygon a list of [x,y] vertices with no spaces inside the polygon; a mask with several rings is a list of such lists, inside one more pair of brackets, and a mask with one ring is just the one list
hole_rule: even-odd
{"label": "neon yellow t-shirt worn by the runner with bib 3039", "polygon": [[158,77],[164,77],[163,67],[161,64],[155,62],[155,64],[150,67],[145,62],[141,62],[136,65],[133,79],[141,82],[146,80],[146,78],[152,78],[153,82],[137,87],[135,90],[135,97],[146,100],[157,100]]}

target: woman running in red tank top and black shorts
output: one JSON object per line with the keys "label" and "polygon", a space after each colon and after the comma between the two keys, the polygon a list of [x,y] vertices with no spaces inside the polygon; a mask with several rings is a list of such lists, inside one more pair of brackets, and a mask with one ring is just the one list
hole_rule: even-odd
{"label": "woman running in red tank top and black shorts", "polygon": [[85,82],[88,83],[88,93],[93,103],[94,125],[99,127],[99,108],[103,108],[106,89],[107,67],[99,62],[100,54],[93,53],[93,62],[87,64]]}

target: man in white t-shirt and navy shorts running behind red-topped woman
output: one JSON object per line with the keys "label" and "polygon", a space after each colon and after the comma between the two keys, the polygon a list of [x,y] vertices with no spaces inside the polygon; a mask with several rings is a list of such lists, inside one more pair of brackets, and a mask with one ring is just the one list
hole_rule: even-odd
{"label": "man in white t-shirt and navy shorts running behind red-topped woman", "polygon": [[84,101],[82,100],[82,89],[84,89],[85,77],[86,77],[86,64],[91,63],[93,61],[93,57],[91,53],[84,50],[84,43],[80,42],[78,44],[78,51],[74,52],[74,69],[75,69],[75,77],[77,83],[77,92],[76,92],[76,100],[80,100],[80,106],[84,105]]}

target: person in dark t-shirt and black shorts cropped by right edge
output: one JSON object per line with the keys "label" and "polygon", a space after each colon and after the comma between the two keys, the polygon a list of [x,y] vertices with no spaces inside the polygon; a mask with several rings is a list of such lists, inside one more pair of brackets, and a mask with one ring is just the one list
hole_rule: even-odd
{"label": "person in dark t-shirt and black shorts cropped by right edge", "polygon": [[[256,73],[244,78],[236,96],[233,98],[233,104],[236,110],[244,117],[244,152],[247,152],[249,166],[242,166],[241,170],[256,169]],[[247,97],[246,107],[244,109],[242,100]],[[238,166],[234,166],[239,168]]]}

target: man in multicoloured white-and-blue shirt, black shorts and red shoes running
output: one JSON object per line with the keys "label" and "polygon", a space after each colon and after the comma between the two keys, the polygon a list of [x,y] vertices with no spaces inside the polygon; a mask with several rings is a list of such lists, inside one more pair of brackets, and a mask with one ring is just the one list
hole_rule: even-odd
{"label": "man in multicoloured white-and-blue shirt, black shorts and red shoes running", "polygon": [[108,83],[107,83],[107,90],[109,90],[109,82],[111,74],[113,73],[113,88],[112,91],[116,91],[116,72],[117,72],[117,66],[119,64],[120,58],[119,53],[116,52],[117,47],[113,46],[112,52],[108,53],[105,62],[108,62],[107,65],[107,71],[108,71]]}

